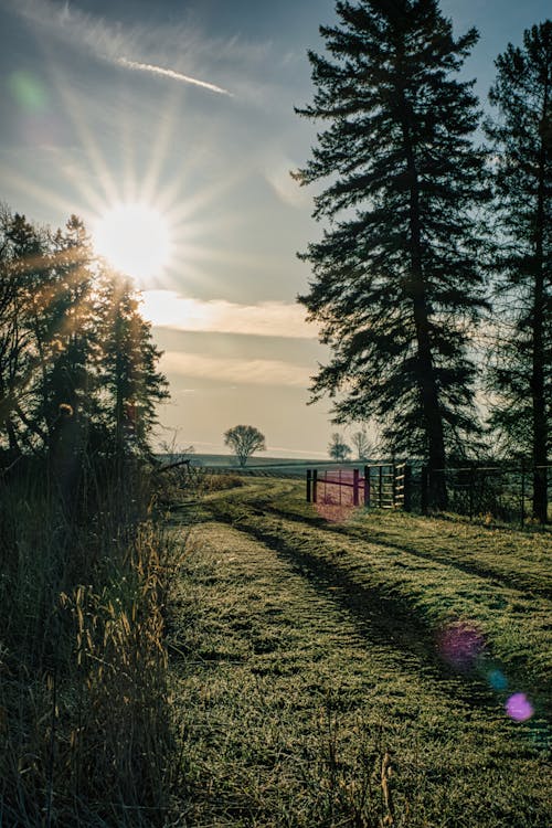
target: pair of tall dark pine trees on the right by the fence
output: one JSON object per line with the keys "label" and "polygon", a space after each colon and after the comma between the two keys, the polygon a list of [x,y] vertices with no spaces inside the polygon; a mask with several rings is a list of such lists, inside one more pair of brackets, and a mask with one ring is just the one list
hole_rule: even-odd
{"label": "pair of tall dark pine trees on the right by the fence", "polygon": [[[325,182],[320,241],[299,298],[330,360],[312,399],[336,423],[382,426],[390,453],[445,468],[485,450],[528,457],[546,520],[552,420],[552,22],[496,61],[484,124],[459,71],[478,33],[455,38],[437,0],[337,2],[309,52],[322,124],[301,184]],[[487,395],[490,417],[477,402]],[[490,429],[490,431],[489,431]]]}

